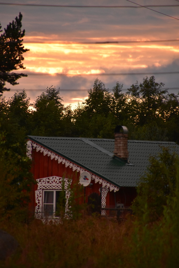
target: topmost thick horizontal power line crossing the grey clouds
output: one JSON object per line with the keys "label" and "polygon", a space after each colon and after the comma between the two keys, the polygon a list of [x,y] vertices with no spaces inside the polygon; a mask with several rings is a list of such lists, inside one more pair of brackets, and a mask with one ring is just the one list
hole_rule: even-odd
{"label": "topmost thick horizontal power line crossing the grey clouds", "polygon": [[[131,2],[131,1],[129,1]],[[132,2],[133,3],[133,2]],[[136,3],[134,3],[136,4]],[[147,7],[177,7],[179,5],[146,5],[146,6],[81,6],[81,5],[43,5],[43,4],[23,4],[23,3],[0,3],[0,5],[9,6],[44,6],[44,7],[59,7],[59,8],[147,8]],[[138,5],[138,4],[136,4]],[[154,10],[155,11],[155,10]]]}

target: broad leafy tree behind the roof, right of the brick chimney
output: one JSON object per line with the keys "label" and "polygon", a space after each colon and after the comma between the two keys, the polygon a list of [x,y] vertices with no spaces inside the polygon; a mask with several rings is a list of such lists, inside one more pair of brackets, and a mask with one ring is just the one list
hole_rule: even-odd
{"label": "broad leafy tree behind the roof, right of the brick chimney", "polygon": [[179,98],[163,86],[146,76],[128,89],[128,118],[136,126],[132,139],[179,141]]}

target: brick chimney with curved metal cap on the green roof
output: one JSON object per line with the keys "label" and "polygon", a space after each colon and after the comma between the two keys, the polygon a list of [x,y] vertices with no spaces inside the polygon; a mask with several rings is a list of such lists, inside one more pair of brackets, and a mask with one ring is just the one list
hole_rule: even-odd
{"label": "brick chimney with curved metal cap on the green roof", "polygon": [[128,128],[126,126],[116,126],[114,130],[114,155],[128,160]]}

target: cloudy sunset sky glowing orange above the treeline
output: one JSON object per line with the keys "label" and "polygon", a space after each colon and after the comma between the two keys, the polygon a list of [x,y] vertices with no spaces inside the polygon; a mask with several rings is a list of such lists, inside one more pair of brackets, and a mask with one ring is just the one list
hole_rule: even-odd
{"label": "cloudy sunset sky glowing orange above the treeline", "polygon": [[23,44],[30,49],[24,53],[26,69],[19,72],[28,77],[16,86],[7,83],[11,90],[3,93],[6,98],[25,89],[32,103],[53,85],[60,88],[64,105],[75,107],[88,96],[96,78],[109,90],[118,81],[125,92],[152,75],[169,93],[178,94],[179,73],[174,72],[179,71],[179,1],[0,0],[2,29],[19,12]]}

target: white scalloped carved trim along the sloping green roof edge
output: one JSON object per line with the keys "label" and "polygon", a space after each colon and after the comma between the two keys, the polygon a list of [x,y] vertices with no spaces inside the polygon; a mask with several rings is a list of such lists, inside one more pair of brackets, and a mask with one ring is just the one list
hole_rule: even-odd
{"label": "white scalloped carved trim along the sloping green roof edge", "polygon": [[[44,148],[43,146],[40,146],[39,144],[37,144],[35,142],[32,142],[32,146],[33,146],[34,149],[36,149],[37,152],[38,151],[43,152],[43,155],[44,156],[47,154],[48,156],[51,157],[51,159],[57,160],[58,163],[61,163],[62,162],[62,164],[65,164],[65,167],[68,167],[69,166],[69,168],[72,168],[73,171],[74,170],[77,170],[77,172],[79,171],[80,174],[82,172],[84,172],[84,171],[89,172],[88,170],[81,168],[80,166],[74,164],[73,162],[70,162],[69,160],[67,160],[67,159],[65,159],[65,158],[63,158],[63,157],[55,154],[54,152],[52,152],[50,150],[47,150],[46,148]],[[98,183],[102,184],[102,187],[109,188],[110,192],[111,191],[117,192],[119,190],[119,187],[117,187],[117,186],[109,183],[108,181],[106,181],[106,180],[104,180],[104,179],[96,176],[95,174],[93,174],[91,172],[89,172],[89,173],[91,174],[92,180],[95,180],[95,183],[98,182]]]}

